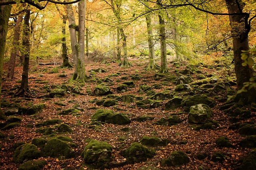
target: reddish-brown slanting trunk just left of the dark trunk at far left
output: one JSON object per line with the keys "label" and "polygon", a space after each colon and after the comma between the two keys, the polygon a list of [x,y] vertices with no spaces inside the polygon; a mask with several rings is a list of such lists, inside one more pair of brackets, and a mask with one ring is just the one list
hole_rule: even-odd
{"label": "reddish-brown slanting trunk just left of the dark trunk at far left", "polygon": [[16,25],[15,25],[15,28],[14,28],[13,41],[12,41],[12,51],[11,51],[9,66],[8,66],[7,75],[6,75],[7,80],[12,80],[13,76],[14,76],[16,55],[18,53],[18,45],[20,44],[19,43],[19,40],[20,40],[20,25],[21,25],[22,20],[23,20],[22,17],[23,17],[22,14],[20,14],[18,16],[18,19],[16,21]]}

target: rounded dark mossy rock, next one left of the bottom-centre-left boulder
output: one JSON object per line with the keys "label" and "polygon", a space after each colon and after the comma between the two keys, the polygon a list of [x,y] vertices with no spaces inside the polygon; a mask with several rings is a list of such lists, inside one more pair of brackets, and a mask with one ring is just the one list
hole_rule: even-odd
{"label": "rounded dark mossy rock, next one left of the bottom-centre-left boulder", "polygon": [[50,139],[46,143],[43,152],[46,156],[59,159],[71,158],[74,156],[74,152],[72,152],[70,146],[66,142],[56,138]]}

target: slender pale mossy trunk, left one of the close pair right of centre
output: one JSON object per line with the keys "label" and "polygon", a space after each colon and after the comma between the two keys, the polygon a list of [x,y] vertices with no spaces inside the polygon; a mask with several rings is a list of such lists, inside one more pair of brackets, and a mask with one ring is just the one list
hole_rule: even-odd
{"label": "slender pale mossy trunk, left one of the close pair right of centre", "polygon": [[153,41],[153,33],[152,33],[152,22],[150,15],[146,15],[146,23],[148,30],[148,67],[146,70],[157,70],[160,67],[155,63],[155,50],[154,50],[154,41]]}

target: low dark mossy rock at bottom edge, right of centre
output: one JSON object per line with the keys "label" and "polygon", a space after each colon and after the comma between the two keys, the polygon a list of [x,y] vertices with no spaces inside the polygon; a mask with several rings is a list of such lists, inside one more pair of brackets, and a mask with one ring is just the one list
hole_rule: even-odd
{"label": "low dark mossy rock at bottom edge, right of centre", "polygon": [[180,166],[190,162],[188,156],[179,150],[173,151],[166,159],[161,160],[161,166]]}

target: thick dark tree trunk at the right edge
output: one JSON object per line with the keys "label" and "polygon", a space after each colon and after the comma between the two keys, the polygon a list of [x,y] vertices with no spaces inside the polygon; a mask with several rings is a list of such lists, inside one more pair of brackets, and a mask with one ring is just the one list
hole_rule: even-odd
{"label": "thick dark tree trunk at the right edge", "polygon": [[[226,0],[229,14],[239,14],[243,10],[244,5],[240,0]],[[240,11],[241,10],[241,11]],[[242,66],[241,50],[249,50],[248,33],[250,31],[250,25],[248,25],[249,14],[244,15],[230,15],[231,34],[233,37],[233,49],[234,49],[234,64],[236,72],[236,82],[238,90],[244,87],[245,82],[250,82],[250,78],[253,77],[252,68],[248,65]],[[256,90],[251,88],[247,92],[238,94],[238,98],[245,104],[255,102]]]}

